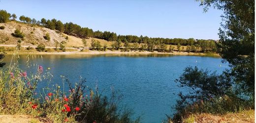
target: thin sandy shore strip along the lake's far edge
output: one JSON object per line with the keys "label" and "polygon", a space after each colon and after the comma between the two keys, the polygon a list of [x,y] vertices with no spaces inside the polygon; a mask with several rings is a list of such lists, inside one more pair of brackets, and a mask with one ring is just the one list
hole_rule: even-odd
{"label": "thin sandy shore strip along the lake's far edge", "polygon": [[200,55],[200,56],[220,56],[216,53],[194,53],[194,52],[158,52],[158,51],[97,51],[97,50],[88,50],[88,51],[65,51],[65,52],[6,52],[6,54],[88,54],[88,55],[96,55],[96,54],[170,54],[170,55]]}

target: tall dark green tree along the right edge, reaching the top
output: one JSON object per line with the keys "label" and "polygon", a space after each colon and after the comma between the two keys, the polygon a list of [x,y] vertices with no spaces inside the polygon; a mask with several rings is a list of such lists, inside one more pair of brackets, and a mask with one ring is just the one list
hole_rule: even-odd
{"label": "tall dark green tree along the right edge, reaching the top", "polygon": [[255,97],[255,0],[204,0],[224,11],[218,52],[231,66],[241,92]]}

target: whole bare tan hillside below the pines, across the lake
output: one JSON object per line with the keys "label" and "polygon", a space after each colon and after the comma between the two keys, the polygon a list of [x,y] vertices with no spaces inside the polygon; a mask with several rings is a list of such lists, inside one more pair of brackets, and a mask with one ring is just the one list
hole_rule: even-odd
{"label": "whole bare tan hillside below the pines, across the lake", "polygon": [[[17,41],[21,38],[12,36],[12,33],[14,33],[16,29],[19,29],[25,35],[25,37],[22,39],[23,46],[37,46],[38,44],[43,43],[48,47],[55,47],[55,42],[57,41],[59,43],[63,43],[65,47],[83,47],[81,38],[66,35],[57,30],[51,30],[49,28],[40,27],[37,25],[23,24],[13,21],[0,23],[0,26],[4,26],[4,29],[0,29],[0,44],[17,45]],[[44,38],[47,33],[50,35],[50,40],[46,40]],[[91,38],[86,40],[87,46],[91,46]],[[110,46],[110,43],[105,40],[96,40],[100,41],[102,45],[107,44]]]}

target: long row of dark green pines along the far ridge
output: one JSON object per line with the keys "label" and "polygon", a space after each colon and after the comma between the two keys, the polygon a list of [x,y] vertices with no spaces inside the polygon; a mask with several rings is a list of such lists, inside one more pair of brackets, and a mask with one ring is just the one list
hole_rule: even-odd
{"label": "long row of dark green pines along the far ridge", "polygon": [[[0,23],[5,23],[9,20],[15,21],[17,16],[15,14],[10,14],[5,10],[0,10]],[[72,22],[65,23],[60,20],[52,19],[46,20],[42,18],[40,21],[31,19],[24,15],[20,16],[19,20],[26,24],[34,24],[38,26],[43,26],[53,30],[58,30],[68,35],[73,35],[79,38],[98,38],[104,39],[106,41],[121,41],[123,43],[138,43],[138,44],[148,44],[151,48],[150,50],[155,49],[158,45],[181,45],[189,47],[200,48],[203,52],[216,52],[216,41],[214,40],[203,40],[203,39],[182,39],[182,38],[151,38],[148,36],[136,36],[136,35],[117,35],[115,32],[109,31],[93,31],[88,27],[81,27],[80,25],[73,24]]]}

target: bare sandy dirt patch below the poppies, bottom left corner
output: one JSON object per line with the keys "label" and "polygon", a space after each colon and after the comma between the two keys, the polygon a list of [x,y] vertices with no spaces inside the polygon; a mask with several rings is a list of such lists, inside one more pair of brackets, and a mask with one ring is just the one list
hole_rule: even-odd
{"label": "bare sandy dirt patch below the poppies, bottom left corner", "polygon": [[28,115],[0,115],[0,123],[42,123]]}

